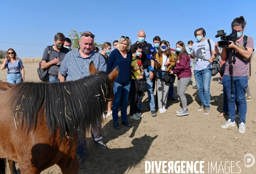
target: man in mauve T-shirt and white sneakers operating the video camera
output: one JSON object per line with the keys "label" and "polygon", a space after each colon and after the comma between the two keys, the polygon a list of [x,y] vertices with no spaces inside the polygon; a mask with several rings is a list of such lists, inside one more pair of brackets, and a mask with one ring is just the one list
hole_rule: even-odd
{"label": "man in mauve T-shirt and white sneakers operating the video camera", "polygon": [[[252,37],[247,38],[247,45],[245,46],[245,50],[239,48],[237,44],[243,46],[244,45],[244,27],[246,25],[246,22],[244,20],[244,17],[237,17],[233,20],[231,27],[233,30],[237,31],[237,38],[236,38],[236,45],[234,42],[231,42],[229,47],[227,47],[231,51],[234,49],[236,51],[235,59],[236,62],[232,59],[232,65],[233,65],[233,97],[231,94],[231,77],[230,77],[230,60],[227,56],[227,49],[223,48],[221,52],[221,59],[225,61],[225,71],[224,76],[222,79],[223,85],[226,88],[227,93],[227,104],[228,104],[228,110],[229,110],[229,119],[225,124],[221,126],[221,128],[227,128],[229,126],[236,126],[235,118],[236,118],[236,100],[239,107],[239,129],[238,132],[243,134],[245,132],[245,116],[247,112],[247,102],[245,99],[245,92],[247,88],[247,69],[249,66],[248,61],[244,61],[244,59],[240,58],[237,53],[239,53],[241,56],[243,56],[246,59],[249,59],[253,53],[254,48],[254,41]],[[232,55],[233,57],[233,55]]]}

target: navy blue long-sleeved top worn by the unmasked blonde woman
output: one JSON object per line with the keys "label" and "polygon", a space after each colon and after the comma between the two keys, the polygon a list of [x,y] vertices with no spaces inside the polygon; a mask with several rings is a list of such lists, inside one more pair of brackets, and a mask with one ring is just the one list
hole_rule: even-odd
{"label": "navy blue long-sleeved top worn by the unmasked blonde woman", "polygon": [[127,52],[126,58],[122,56],[118,49],[114,49],[108,58],[107,71],[111,73],[111,71],[118,66],[119,73],[115,80],[118,83],[127,83],[131,81],[131,59],[132,53],[131,51]]}

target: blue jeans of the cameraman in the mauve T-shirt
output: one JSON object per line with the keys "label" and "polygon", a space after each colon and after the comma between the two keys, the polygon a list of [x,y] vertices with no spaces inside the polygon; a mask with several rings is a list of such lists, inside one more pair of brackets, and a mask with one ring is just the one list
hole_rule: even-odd
{"label": "blue jeans of the cameraman in the mauve T-shirt", "polygon": [[247,112],[247,102],[245,99],[245,93],[248,86],[247,76],[233,77],[233,96],[231,95],[231,78],[230,76],[223,76],[223,86],[226,88],[227,93],[227,105],[229,110],[229,118],[231,121],[235,121],[236,118],[236,101],[239,107],[239,124],[243,122],[245,124],[245,116]]}

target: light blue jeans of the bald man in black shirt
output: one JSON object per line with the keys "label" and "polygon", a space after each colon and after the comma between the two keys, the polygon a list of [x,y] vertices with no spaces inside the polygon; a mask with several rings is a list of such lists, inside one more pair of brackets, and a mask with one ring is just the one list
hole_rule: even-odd
{"label": "light blue jeans of the bald man in black shirt", "polygon": [[149,102],[149,106],[150,106],[150,110],[154,111],[155,109],[155,104],[154,104],[154,92],[153,92],[153,80],[154,79],[149,79],[149,73],[151,71],[149,71],[148,69],[144,70],[144,74],[143,74],[143,78],[147,79],[147,92],[148,92],[148,102]]}

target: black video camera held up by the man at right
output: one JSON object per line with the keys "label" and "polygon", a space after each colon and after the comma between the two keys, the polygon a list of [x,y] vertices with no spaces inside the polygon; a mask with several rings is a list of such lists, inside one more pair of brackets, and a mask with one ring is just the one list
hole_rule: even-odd
{"label": "black video camera held up by the man at right", "polygon": [[227,33],[224,32],[224,30],[219,30],[217,31],[217,37],[221,37],[221,41],[218,42],[218,45],[220,48],[227,48],[230,45],[229,41],[236,42],[236,37],[237,37],[237,31],[232,30],[232,33],[228,36],[226,36]]}

